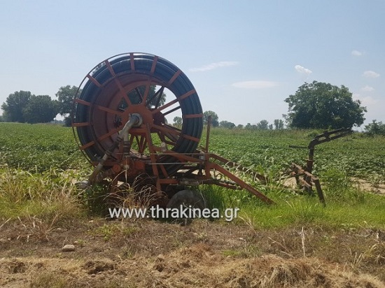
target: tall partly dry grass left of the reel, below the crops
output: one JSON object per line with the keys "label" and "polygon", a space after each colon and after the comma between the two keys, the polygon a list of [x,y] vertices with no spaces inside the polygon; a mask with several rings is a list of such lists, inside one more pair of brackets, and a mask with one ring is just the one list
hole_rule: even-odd
{"label": "tall partly dry grass left of the reel, below the crops", "polygon": [[41,174],[0,167],[0,219],[71,222],[83,215],[70,177],[58,171]]}

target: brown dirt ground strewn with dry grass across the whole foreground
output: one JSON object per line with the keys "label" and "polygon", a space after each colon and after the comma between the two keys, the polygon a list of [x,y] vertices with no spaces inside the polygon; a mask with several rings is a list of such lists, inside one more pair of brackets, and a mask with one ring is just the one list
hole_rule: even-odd
{"label": "brown dirt ground strewn with dry grass across the whole foreground", "polygon": [[[73,244],[75,251],[63,252]],[[385,287],[384,231],[194,220],[0,224],[0,287]]]}

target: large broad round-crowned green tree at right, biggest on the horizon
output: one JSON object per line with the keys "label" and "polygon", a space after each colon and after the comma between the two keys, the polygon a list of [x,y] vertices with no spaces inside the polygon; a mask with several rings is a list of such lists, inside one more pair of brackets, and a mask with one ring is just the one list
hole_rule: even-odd
{"label": "large broad round-crowned green tree at right, biggest on the horizon", "polygon": [[292,128],[337,129],[363,124],[366,108],[359,100],[353,101],[349,89],[330,83],[305,82],[295,94],[285,99],[288,103],[286,122]]}

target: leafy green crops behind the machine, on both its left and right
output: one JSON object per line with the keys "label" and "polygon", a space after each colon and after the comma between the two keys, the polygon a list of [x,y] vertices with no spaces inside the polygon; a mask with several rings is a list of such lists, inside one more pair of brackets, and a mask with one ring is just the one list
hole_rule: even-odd
{"label": "leafy green crops behind the machine, on both its left and right", "polygon": [[[211,129],[211,152],[262,171],[284,170],[295,161],[304,164],[307,146],[317,131],[246,131]],[[205,143],[205,135],[202,143]],[[72,129],[55,124],[0,123],[0,161],[28,171],[88,166],[74,141]],[[314,173],[339,169],[349,176],[385,179],[385,138],[352,134],[316,146]]]}

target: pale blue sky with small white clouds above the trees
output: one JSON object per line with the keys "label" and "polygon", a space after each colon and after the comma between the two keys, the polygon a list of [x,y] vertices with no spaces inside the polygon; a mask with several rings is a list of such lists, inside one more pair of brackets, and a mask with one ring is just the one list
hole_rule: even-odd
{"label": "pale blue sky with small white clouds above the trees", "polygon": [[179,66],[219,120],[282,119],[305,81],[345,85],[385,122],[385,1],[2,1],[0,103],[55,98],[99,62],[148,52]]}

